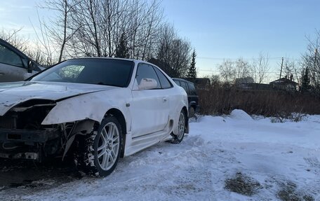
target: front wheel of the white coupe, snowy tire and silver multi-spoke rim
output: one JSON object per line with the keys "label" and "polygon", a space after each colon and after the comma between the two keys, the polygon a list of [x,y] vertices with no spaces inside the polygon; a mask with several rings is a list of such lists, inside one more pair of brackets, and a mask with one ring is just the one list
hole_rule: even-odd
{"label": "front wheel of the white coupe, snowy tire and silver multi-spoke rim", "polygon": [[[119,161],[121,144],[121,125],[113,116],[106,116],[98,131],[86,137],[76,165],[86,174],[108,176]],[[79,148],[81,149],[81,146]]]}

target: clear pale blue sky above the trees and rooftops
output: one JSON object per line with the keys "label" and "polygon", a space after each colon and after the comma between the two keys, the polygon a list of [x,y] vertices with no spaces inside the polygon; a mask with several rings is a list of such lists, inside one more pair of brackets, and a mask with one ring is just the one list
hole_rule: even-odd
{"label": "clear pale blue sky above the trees and rooftops", "polygon": [[[23,27],[32,37],[39,3],[0,0],[0,29]],[[298,59],[305,36],[320,29],[319,0],[162,0],[162,6],[166,20],[196,49],[200,75],[216,73],[222,58],[252,59],[260,51],[279,58],[270,62],[276,71],[280,57]]]}

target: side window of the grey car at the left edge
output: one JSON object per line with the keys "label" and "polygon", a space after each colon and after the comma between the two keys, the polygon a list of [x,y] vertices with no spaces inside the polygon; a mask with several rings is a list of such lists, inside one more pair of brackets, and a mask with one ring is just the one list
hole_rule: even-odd
{"label": "side window of the grey car at the left edge", "polygon": [[2,45],[0,45],[0,63],[23,67],[20,56]]}

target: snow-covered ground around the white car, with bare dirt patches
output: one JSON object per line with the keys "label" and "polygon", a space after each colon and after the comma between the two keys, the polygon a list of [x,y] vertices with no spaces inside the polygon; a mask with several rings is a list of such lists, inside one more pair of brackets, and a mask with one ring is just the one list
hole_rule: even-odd
{"label": "snow-covered ground around the white car, with bare dirt patches", "polygon": [[[246,192],[239,175],[258,183],[251,195],[226,187],[240,183]],[[106,178],[36,182],[3,188],[0,200],[320,200],[320,116],[299,123],[253,120],[239,110],[204,116],[190,123],[181,144],[124,158]]]}

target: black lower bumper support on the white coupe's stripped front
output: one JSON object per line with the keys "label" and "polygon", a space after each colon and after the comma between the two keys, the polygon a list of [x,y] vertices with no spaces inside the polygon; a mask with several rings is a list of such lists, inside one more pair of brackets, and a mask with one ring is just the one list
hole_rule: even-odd
{"label": "black lower bumper support on the white coupe's stripped front", "polygon": [[60,137],[60,130],[15,130],[0,128],[0,158],[41,161],[47,141]]}

